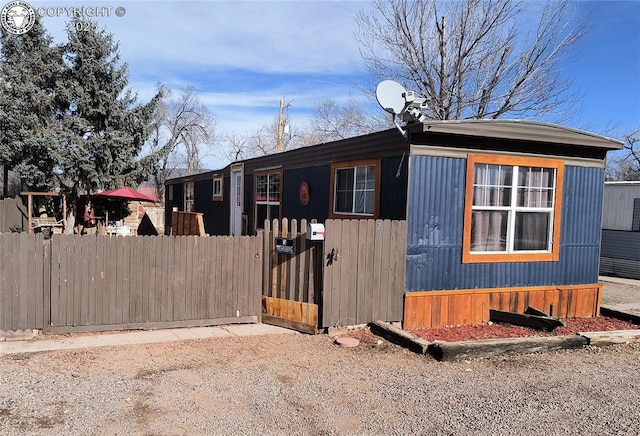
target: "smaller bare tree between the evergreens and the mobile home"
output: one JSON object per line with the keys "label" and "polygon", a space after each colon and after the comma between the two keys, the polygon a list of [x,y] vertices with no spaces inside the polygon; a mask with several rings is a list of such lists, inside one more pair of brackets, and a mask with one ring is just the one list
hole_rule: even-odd
{"label": "smaller bare tree between the evergreens and the mobile home", "polygon": [[160,85],[160,90],[163,97],[150,146],[159,161],[154,178],[158,198],[164,201],[164,183],[176,168],[186,174],[201,169],[202,159],[216,141],[216,120],[193,87],[184,88],[177,99],[172,99],[171,91],[164,86]]}

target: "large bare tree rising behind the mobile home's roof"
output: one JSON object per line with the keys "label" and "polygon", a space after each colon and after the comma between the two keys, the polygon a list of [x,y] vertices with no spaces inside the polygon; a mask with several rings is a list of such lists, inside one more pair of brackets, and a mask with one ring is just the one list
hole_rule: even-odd
{"label": "large bare tree rising behind the mobile home's roof", "polygon": [[431,119],[558,115],[573,98],[559,65],[586,24],[571,25],[567,1],[537,5],[376,0],[356,38],[374,76],[420,93]]}

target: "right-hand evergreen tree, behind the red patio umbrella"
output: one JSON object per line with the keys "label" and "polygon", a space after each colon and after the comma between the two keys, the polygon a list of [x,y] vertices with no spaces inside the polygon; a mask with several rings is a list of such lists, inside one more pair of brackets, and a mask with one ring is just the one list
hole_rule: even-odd
{"label": "right-hand evergreen tree, behind the red patio umbrella", "polygon": [[128,67],[120,63],[119,44],[111,34],[75,23],[68,27],[66,70],[56,93],[63,131],[58,170],[72,197],[137,184],[149,176],[154,162],[139,155],[157,102],[156,97],[136,103],[128,89]]}

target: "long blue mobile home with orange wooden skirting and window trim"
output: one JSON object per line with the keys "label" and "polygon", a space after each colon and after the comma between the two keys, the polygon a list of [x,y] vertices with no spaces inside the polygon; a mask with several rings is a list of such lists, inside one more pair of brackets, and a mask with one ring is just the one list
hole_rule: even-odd
{"label": "long blue mobile home with orange wooden skirting and window trim", "polygon": [[596,316],[605,157],[621,146],[527,121],[417,123],[169,180],[166,216],[202,212],[212,235],[264,218],[406,220],[406,327],[528,305]]}

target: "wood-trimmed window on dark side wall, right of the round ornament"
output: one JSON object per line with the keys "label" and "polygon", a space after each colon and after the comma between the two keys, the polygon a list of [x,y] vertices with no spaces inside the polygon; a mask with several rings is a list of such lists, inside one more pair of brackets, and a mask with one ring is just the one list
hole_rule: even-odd
{"label": "wood-trimmed window on dark side wall, right of the round ornament", "polygon": [[377,217],[379,192],[379,159],[332,164],[330,218]]}

